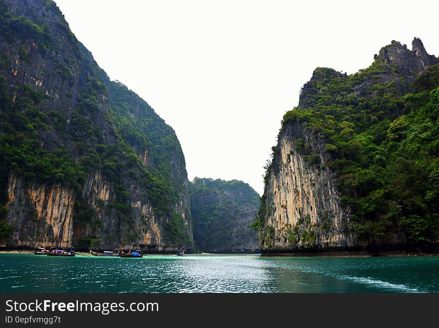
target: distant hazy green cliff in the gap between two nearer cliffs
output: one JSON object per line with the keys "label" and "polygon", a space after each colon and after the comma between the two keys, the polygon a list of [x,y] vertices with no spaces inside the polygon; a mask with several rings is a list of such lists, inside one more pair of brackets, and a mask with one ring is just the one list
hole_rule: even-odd
{"label": "distant hazy green cliff in the gap between two nearer cliffs", "polygon": [[210,253],[259,251],[256,218],[259,195],[248,184],[195,178],[190,187],[196,248]]}

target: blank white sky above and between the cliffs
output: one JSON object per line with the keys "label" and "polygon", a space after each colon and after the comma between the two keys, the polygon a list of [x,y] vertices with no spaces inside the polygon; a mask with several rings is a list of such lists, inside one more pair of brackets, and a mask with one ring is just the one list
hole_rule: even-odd
{"label": "blank white sky above and between the cliffs", "polygon": [[439,2],[55,0],[112,80],[176,131],[188,178],[263,193],[280,121],[316,67],[353,74],[392,40],[439,55]]}

